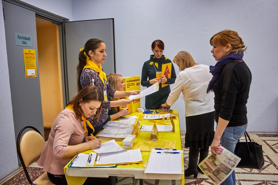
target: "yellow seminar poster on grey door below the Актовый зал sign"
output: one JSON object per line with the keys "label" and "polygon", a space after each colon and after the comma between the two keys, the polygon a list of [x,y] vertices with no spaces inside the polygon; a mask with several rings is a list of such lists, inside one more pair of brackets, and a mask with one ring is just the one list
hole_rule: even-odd
{"label": "yellow seminar poster on grey door below the \u0410\u043a\u0442\u043e\u0432\u044b\u0439 \u0437\u0430\u043b sign", "polygon": [[36,52],[34,49],[23,49],[25,78],[37,76]]}

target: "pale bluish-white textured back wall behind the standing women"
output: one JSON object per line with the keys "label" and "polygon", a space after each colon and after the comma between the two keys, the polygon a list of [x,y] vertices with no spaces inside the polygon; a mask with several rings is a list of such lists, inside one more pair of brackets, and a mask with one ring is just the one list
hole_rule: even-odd
{"label": "pale bluish-white textured back wall behind the standing women", "polygon": [[[214,65],[211,36],[236,30],[247,46],[244,60],[253,75],[248,131],[278,132],[278,1],[72,0],[72,7],[74,21],[115,18],[116,72],[123,76],[141,76],[156,39],[164,42],[164,55],[171,60],[186,50],[197,63]],[[184,102],[179,99],[172,108],[179,110],[185,130]]]}

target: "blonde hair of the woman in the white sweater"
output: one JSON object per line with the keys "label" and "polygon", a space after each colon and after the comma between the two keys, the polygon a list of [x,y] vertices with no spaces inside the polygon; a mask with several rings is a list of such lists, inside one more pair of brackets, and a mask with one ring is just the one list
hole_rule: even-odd
{"label": "blonde hair of the woman in the white sweater", "polygon": [[196,64],[193,57],[187,51],[180,51],[173,59],[173,62],[177,64],[180,70],[192,67]]}

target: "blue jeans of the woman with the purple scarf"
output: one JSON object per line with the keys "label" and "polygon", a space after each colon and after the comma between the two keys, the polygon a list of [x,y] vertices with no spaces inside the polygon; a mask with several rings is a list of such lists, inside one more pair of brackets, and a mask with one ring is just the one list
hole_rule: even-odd
{"label": "blue jeans of the woman with the purple scarf", "polygon": [[[234,153],[237,140],[242,137],[246,128],[247,124],[238,127],[226,127],[221,137],[221,146]],[[235,171],[221,185],[236,185]]]}

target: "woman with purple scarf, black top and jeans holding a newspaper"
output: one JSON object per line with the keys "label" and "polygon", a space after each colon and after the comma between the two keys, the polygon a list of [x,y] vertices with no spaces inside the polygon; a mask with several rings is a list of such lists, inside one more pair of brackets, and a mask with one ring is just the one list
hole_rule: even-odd
{"label": "woman with purple scarf, black top and jeans holding a newspaper", "polygon": [[[236,31],[218,32],[211,37],[210,44],[217,61],[215,66],[210,66],[213,77],[207,88],[207,93],[211,91],[215,95],[217,127],[211,143],[211,153],[215,156],[220,154],[221,145],[234,153],[237,140],[247,128],[246,103],[252,75],[242,59],[246,47]],[[235,171],[222,184],[235,185]]]}

